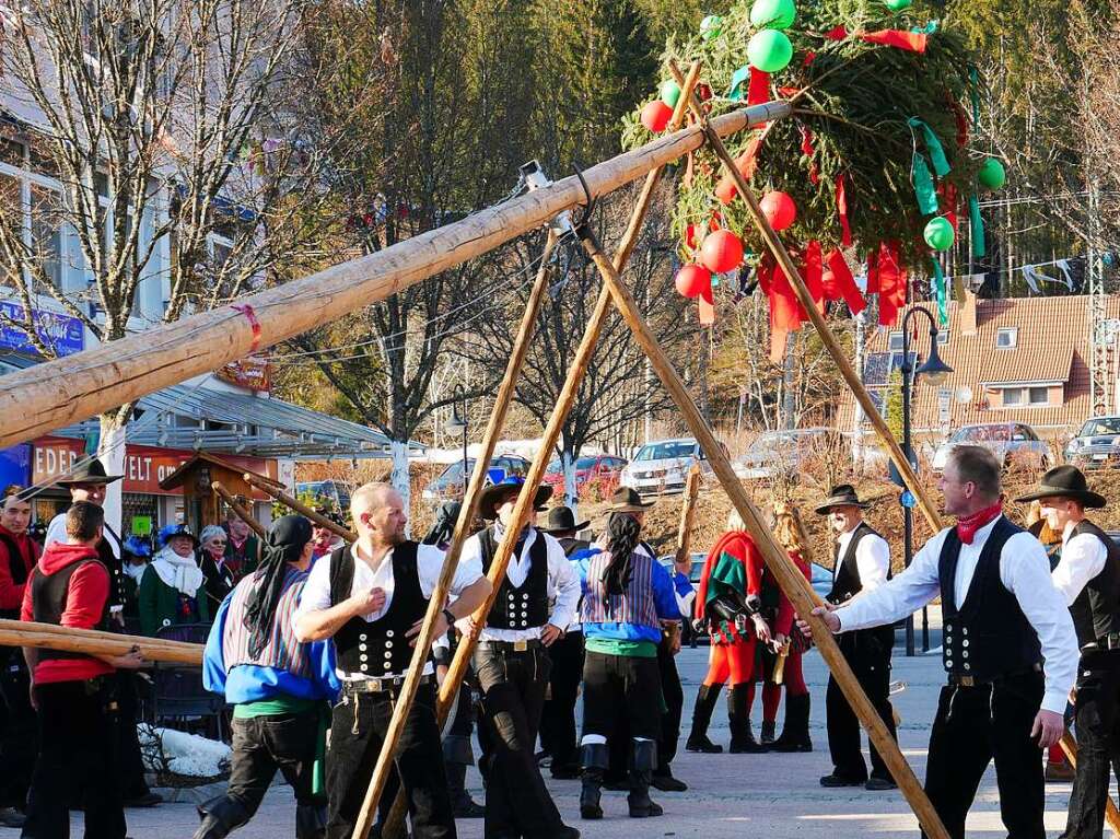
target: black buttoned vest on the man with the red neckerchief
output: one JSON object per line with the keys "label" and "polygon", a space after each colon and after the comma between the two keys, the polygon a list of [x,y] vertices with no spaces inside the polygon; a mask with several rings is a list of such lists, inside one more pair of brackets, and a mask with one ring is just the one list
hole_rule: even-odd
{"label": "black buttoned vest on the man with the red neckerchief", "polygon": [[941,610],[944,621],[942,663],[959,677],[982,682],[1024,673],[1043,660],[1042,645],[1019,602],[999,577],[999,562],[1007,540],[1023,533],[1000,516],[988,534],[969,591],[956,608],[956,563],[961,540],[950,528],[937,560]]}

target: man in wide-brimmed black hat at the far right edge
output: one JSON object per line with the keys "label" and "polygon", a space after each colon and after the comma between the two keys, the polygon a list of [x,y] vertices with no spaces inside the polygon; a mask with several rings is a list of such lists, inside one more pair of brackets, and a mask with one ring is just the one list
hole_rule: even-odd
{"label": "man in wide-brimmed black hat at the far right edge", "polygon": [[1057,466],[1020,502],[1037,500],[1042,515],[1062,534],[1054,586],[1065,597],[1077,633],[1081,662],[1074,725],[1077,770],[1064,839],[1100,837],[1109,795],[1109,763],[1120,758],[1120,546],[1085,518],[1103,507],[1074,466]]}

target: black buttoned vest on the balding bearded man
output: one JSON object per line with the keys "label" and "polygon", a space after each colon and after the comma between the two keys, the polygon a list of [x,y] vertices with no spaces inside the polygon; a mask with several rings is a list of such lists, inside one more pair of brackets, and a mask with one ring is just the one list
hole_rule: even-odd
{"label": "black buttoned vest on the balding bearded man", "polygon": [[[321,560],[320,560],[321,561]],[[393,563],[393,599],[381,617],[372,623],[355,616],[335,633],[338,668],[346,673],[381,678],[399,675],[409,669],[412,647],[404,634],[428,609],[420,588],[417,543],[401,542],[389,558]],[[351,596],[354,586],[354,554],[343,546],[330,554],[330,604]]]}

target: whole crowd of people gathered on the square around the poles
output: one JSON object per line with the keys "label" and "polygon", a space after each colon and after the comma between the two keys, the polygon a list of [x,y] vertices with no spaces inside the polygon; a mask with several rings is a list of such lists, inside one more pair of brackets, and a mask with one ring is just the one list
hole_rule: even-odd
{"label": "whole crowd of people gathered on the square around the poles", "polygon": [[[232,708],[232,767],[226,792],[199,807],[195,839],[221,839],[246,823],[278,771],[296,798],[299,839],[351,837],[458,505],[441,509],[416,542],[405,538],[400,495],[388,484],[367,484],[352,496],[353,543],[299,515],[274,521],[263,540],[231,519],[198,538],[181,524],[165,529],[147,558],[104,522],[104,486],[114,479],[95,460],[72,475],[74,503],[52,521],[41,552],[26,535],[25,494],[8,491],[0,608],[78,628],[113,630],[133,619],[151,635],[212,623],[203,682]],[[999,464],[974,446],[953,450],[940,487],[956,523],[897,576],[887,541],[864,519],[868,504],[850,485],[832,488],[815,507],[837,543],[831,591],[814,614],[838,635],[840,653],[894,734],[892,627],[940,595],[946,686],[925,787],[950,836],[964,836],[992,759],[1009,835],[1045,836],[1043,756],[1062,737],[1071,706],[1080,759],[1064,837],[1100,837],[1110,761],[1120,748],[1120,548],[1085,516],[1104,500],[1077,469],[1056,467],[1021,498],[1037,502],[1042,522],[1023,530],[1004,515]],[[688,560],[662,563],[643,540],[651,504],[633,490],[612,496],[594,540],[580,538],[588,522],[567,507],[538,522],[551,496],[543,486],[534,491],[530,521],[511,537],[522,490],[520,478],[510,478],[482,493],[485,524],[465,542],[437,619],[438,641],[403,727],[379,827],[400,791],[417,839],[454,837],[463,818],[483,818],[487,839],[577,839],[544,783],[544,766],[556,780],[579,780],[584,821],[605,818],[604,789],[627,791],[631,818],[661,815],[651,790],[687,789],[672,772],[683,707],[674,656],[684,622],[711,642],[688,751],[722,751],[709,728],[724,694],[729,752],[813,749],[802,671],[812,626],[794,614],[737,513],[693,589]],[[808,579],[812,550],[797,512],[778,504],[772,528]],[[1038,538],[1047,534],[1048,548]],[[514,548],[498,576],[493,563],[506,539]],[[439,684],[487,598],[493,607],[474,627],[469,678],[441,729]],[[22,827],[27,839],[54,839],[67,836],[68,812],[80,805],[87,836],[123,839],[124,805],[153,803],[136,745],[134,673],[146,665],[139,651],[4,654],[0,754],[27,774],[22,783],[19,772],[6,774],[0,803],[9,809],[0,819]],[[874,745],[865,762],[859,719],[834,678],[824,707],[832,768],[820,783],[894,789]],[[36,717],[38,726],[28,725]],[[480,804],[465,787],[475,728]]]}

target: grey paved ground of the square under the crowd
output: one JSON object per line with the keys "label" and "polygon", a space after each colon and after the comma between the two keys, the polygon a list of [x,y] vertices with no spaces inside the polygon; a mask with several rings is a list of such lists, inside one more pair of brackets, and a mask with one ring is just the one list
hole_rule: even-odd
{"label": "grey paved ground of the square under the crowd", "polygon": [[[902,633],[898,633],[902,641]],[[936,633],[934,643],[937,642]],[[920,642],[921,643],[921,636]],[[707,647],[684,650],[679,666],[685,684],[685,719],[691,718],[696,686],[703,675]],[[625,815],[625,793],[604,794],[607,817],[601,822],[581,822],[578,808],[578,782],[550,782],[561,813],[585,837],[615,839],[626,837],[703,837],[738,839],[743,836],[821,837],[847,836],[907,837],[918,835],[917,822],[898,792],[871,793],[862,789],[828,791],[818,777],[831,768],[824,737],[823,696],[827,672],[815,653],[806,662],[806,678],[813,693],[812,734],[816,752],[806,755],[693,755],[682,751],[674,770],[689,783],[685,793],[660,793],[665,808],[660,819],[635,821]],[[906,659],[895,651],[895,679],[906,690],[895,697],[902,715],[899,739],[918,777],[924,775],[930,724],[942,682],[940,656]],[[756,730],[759,709],[756,705]],[[685,724],[685,733],[687,733]],[[712,738],[727,744],[727,720],[713,726]],[[468,781],[480,795],[477,775]],[[1047,786],[1046,827],[1056,836],[1065,826],[1070,784]],[[256,819],[235,836],[244,839],[276,839],[295,835],[295,805],[284,786],[274,786]],[[177,839],[188,837],[197,824],[187,804],[162,805],[155,810],[131,810],[129,835],[134,839]],[[459,837],[478,839],[479,821],[459,823]],[[972,818],[969,836],[1006,836],[999,820],[995,774],[989,770]]]}

